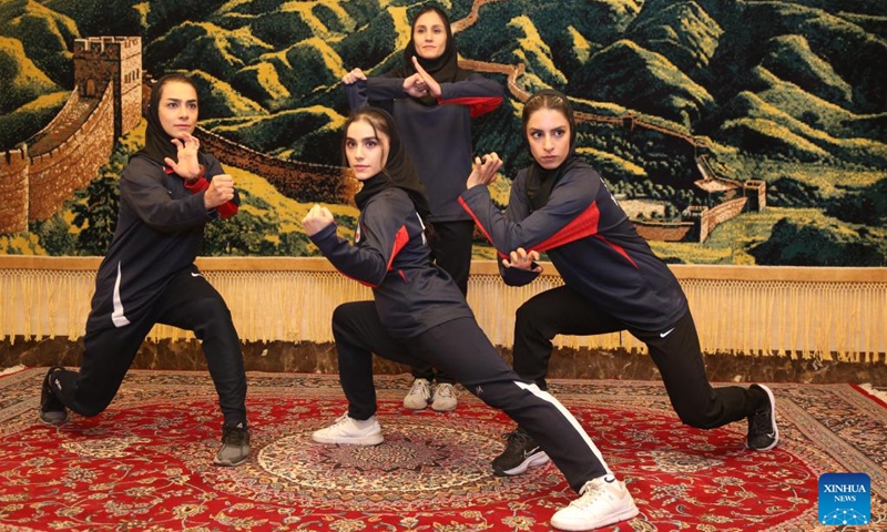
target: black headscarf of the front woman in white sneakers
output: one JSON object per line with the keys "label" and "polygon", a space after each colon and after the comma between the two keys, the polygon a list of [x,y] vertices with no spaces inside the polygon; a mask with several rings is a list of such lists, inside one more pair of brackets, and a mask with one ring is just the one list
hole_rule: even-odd
{"label": "black headscarf of the front woman in white sneakers", "polygon": [[[387,111],[379,108],[363,108],[356,114],[364,113],[375,114],[386,122],[386,129],[388,130],[388,158],[385,161],[381,172],[366,180],[360,192],[355,194],[354,201],[357,204],[357,208],[363,211],[370,197],[388,187],[396,186],[407,193],[419,216],[427,221],[430,211],[428,208],[428,198],[425,195],[425,186],[419,181],[419,173],[416,172],[412,161],[400,142],[395,119]],[[350,124],[354,121],[349,120],[348,123]]]}

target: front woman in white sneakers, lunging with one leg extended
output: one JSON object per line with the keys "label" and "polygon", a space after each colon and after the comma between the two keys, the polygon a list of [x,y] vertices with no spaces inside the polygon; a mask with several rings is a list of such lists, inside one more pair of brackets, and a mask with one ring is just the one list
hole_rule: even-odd
{"label": "front woman in white sneakers, lunging with one leg extended", "polygon": [[[339,378],[348,411],[316,431],[322,443],[378,444],[373,354],[401,364],[430,362],[532,434],[583,493],[552,518],[554,526],[585,530],[638,513],[585,431],[557,399],[520,379],[475,320],[459,288],[430,258],[422,185],[400,143],[394,119],[364,108],[345,125],[345,153],[361,191],[355,243],[336,234],[333,215],[315,205],[306,233],[345,276],[370,286],[374,300],[346,303],[333,315]],[[599,503],[589,504],[589,500]],[[601,502],[603,501],[603,502]],[[580,528],[575,528],[580,526]]]}

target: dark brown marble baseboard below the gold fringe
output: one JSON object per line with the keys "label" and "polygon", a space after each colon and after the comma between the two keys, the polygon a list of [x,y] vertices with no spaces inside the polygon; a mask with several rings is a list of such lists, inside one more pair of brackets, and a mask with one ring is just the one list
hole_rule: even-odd
{"label": "dark brown marble baseboard below the gold fringe", "polygon": [[[511,350],[499,348],[511,362]],[[0,342],[0,369],[24,366],[79,366],[82,340],[67,338],[26,340],[6,338]],[[335,374],[338,370],[333,344],[256,342],[243,346],[247,371]],[[840,362],[775,356],[705,355],[713,382],[869,382],[887,387],[887,362]],[[133,368],[205,370],[206,361],[194,340],[146,341]],[[374,358],[377,374],[402,374],[409,368],[380,357]],[[659,380],[650,357],[624,350],[557,349],[551,357],[550,378]]]}

